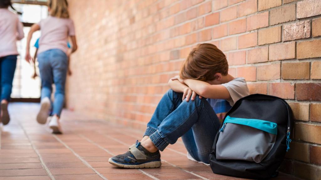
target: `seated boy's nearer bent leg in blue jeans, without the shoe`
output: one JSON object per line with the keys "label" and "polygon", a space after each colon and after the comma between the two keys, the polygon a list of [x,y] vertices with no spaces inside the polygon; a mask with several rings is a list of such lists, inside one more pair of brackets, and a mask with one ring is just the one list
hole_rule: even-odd
{"label": "seated boy's nearer bent leg in blue jeans, without the shoe", "polygon": [[[168,144],[175,143],[179,137],[193,128],[198,151],[205,153],[212,149],[219,127],[220,122],[210,104],[206,99],[196,97],[194,101],[183,101],[162,121],[150,138],[157,149],[163,151]],[[195,134],[195,130],[201,132]]]}

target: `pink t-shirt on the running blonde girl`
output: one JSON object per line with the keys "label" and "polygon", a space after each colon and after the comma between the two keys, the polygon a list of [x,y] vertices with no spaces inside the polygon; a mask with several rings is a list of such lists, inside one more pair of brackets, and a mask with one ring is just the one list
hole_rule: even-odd
{"label": "pink t-shirt on the running blonde girl", "polygon": [[38,25],[41,30],[38,53],[49,49],[60,49],[67,53],[68,36],[75,36],[73,20],[49,16],[41,20]]}

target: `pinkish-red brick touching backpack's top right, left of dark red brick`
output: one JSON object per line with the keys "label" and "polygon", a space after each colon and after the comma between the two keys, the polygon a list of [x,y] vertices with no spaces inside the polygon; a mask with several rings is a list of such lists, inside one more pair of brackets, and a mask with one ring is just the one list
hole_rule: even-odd
{"label": "pinkish-red brick touching backpack's top right, left of dark red brick", "polygon": [[269,83],[269,95],[281,97],[283,99],[294,99],[294,84],[291,83]]}

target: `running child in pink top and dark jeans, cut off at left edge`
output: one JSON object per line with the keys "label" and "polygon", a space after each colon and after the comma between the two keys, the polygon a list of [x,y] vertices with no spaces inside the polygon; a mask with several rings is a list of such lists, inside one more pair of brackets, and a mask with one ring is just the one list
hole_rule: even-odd
{"label": "running child in pink top and dark jeans, cut off at left edge", "polygon": [[[24,37],[22,23],[18,15],[10,12],[10,0],[0,0],[0,77],[1,77],[1,115],[0,123],[10,121],[8,103],[12,91],[12,81],[17,64],[16,41]],[[13,9],[14,10],[14,9]]]}

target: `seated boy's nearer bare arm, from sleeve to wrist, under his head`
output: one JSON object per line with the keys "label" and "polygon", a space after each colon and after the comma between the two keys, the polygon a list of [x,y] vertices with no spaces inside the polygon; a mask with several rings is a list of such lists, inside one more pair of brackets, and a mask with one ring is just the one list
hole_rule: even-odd
{"label": "seated boy's nearer bare arm, from sleeve to wrist, under his head", "polygon": [[226,87],[222,85],[211,85],[204,81],[194,80],[194,79],[184,79],[184,83],[205,98],[211,99],[230,99],[230,93]]}

